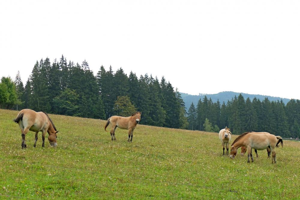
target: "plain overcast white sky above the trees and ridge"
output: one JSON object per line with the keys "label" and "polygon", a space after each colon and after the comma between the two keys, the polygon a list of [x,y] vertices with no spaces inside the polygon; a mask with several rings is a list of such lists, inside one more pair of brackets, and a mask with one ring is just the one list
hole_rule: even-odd
{"label": "plain overcast white sky above the trees and ridge", "polygon": [[180,92],[300,99],[300,1],[1,1],[0,76],[86,59]]}

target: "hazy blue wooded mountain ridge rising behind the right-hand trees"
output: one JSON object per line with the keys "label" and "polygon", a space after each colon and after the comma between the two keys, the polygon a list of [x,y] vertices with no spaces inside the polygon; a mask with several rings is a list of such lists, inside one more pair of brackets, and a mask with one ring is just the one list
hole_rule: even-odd
{"label": "hazy blue wooded mountain ridge rising behind the right-hand trees", "polygon": [[208,99],[211,98],[212,102],[217,102],[217,100],[219,99],[219,102],[221,104],[223,104],[223,102],[225,102],[225,104],[226,104],[228,100],[231,100],[232,98],[234,98],[234,96],[238,96],[240,93],[243,95],[245,100],[249,97],[251,101],[253,100],[254,97],[258,98],[260,101],[262,101],[266,97],[268,97],[268,99],[270,101],[277,101],[277,100],[281,101],[281,99],[282,99],[283,103],[286,105],[287,102],[289,102],[289,100],[290,100],[288,98],[280,98],[280,97],[257,95],[257,94],[254,95],[254,94],[247,94],[247,93],[242,93],[242,92],[232,92],[232,91],[224,91],[224,92],[219,92],[217,94],[199,94],[199,95],[190,95],[187,93],[180,92],[187,110],[190,108],[190,105],[192,104],[192,102],[194,103],[194,105],[196,107],[199,99],[201,98],[201,100],[202,100],[205,95]]}

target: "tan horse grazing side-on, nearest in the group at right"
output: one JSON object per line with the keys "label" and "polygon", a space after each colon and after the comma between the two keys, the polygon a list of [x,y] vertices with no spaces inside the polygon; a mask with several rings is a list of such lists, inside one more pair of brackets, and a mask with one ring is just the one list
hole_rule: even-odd
{"label": "tan horse grazing side-on, nearest in the group at right", "polygon": [[235,139],[235,141],[232,142],[230,158],[234,158],[236,156],[237,149],[239,147],[246,146],[248,150],[248,162],[250,162],[250,156],[253,162],[254,160],[251,153],[251,149],[264,150],[267,147],[269,147],[272,153],[272,163],[276,163],[276,153],[274,149],[275,147],[278,147],[279,143],[281,143],[281,146],[283,147],[283,141],[280,136],[275,136],[272,134],[256,134],[251,132],[245,132],[239,135]]}

